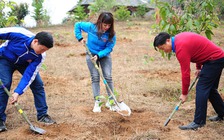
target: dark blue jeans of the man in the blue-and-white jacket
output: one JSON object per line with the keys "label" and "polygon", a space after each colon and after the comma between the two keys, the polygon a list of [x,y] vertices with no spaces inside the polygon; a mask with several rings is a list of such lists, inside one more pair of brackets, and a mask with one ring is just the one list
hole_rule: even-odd
{"label": "dark blue jeans of the man in the blue-and-white jacket", "polygon": [[[15,70],[18,70],[21,74],[24,73],[25,66],[15,66],[4,58],[0,58],[0,79],[5,87],[10,90],[12,84],[12,76]],[[44,91],[44,85],[39,73],[36,75],[35,80],[30,85],[30,88],[34,96],[34,104],[37,110],[37,118],[47,114],[47,103]],[[0,119],[6,121],[5,110],[8,103],[8,95],[5,93],[2,86],[0,86]]]}

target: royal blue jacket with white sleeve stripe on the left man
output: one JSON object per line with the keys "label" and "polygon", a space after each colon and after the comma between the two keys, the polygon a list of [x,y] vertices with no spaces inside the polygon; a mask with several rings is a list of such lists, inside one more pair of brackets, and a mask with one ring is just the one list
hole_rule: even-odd
{"label": "royal blue jacket with white sleeve stripe on the left man", "polygon": [[0,28],[0,39],[6,40],[0,46],[0,56],[16,66],[27,66],[14,90],[19,95],[33,82],[46,57],[46,53],[36,54],[31,48],[34,37],[35,34],[22,27]]}

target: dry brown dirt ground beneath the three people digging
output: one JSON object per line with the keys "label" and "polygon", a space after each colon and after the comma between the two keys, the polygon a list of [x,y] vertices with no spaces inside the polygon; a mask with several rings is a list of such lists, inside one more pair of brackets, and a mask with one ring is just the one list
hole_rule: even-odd
{"label": "dry brown dirt ground beneath the three people digging", "polygon": [[[154,34],[151,22],[116,22],[117,44],[112,53],[114,88],[119,101],[132,110],[123,117],[103,107],[93,113],[93,95],[89,71],[85,61],[85,48],[76,41],[73,25],[31,29],[33,32],[49,31],[54,35],[55,47],[47,52],[46,70],[40,74],[45,84],[49,114],[55,125],[36,121],[36,110],[30,90],[19,100],[31,122],[47,131],[34,134],[13,105],[7,108],[8,131],[0,133],[0,140],[221,140],[223,122],[207,121],[197,131],[182,131],[180,125],[188,124],[194,116],[194,91],[189,101],[180,106],[168,126],[164,122],[171,114],[181,91],[181,74],[175,56],[163,59],[152,47]],[[214,41],[224,48],[223,27],[215,31]],[[192,64],[192,76],[195,65]],[[12,90],[20,79],[14,74]],[[224,74],[219,86],[224,94]],[[105,87],[101,83],[101,94]],[[215,115],[208,103],[208,116]]]}

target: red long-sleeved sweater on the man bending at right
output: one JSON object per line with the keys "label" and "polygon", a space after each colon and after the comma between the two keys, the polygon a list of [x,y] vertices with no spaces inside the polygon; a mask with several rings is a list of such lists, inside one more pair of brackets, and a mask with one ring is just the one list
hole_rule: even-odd
{"label": "red long-sleeved sweater on the man bending at right", "polygon": [[192,32],[177,34],[174,40],[176,57],[181,66],[182,94],[188,94],[190,85],[190,62],[201,69],[204,62],[224,58],[224,51],[207,38]]}

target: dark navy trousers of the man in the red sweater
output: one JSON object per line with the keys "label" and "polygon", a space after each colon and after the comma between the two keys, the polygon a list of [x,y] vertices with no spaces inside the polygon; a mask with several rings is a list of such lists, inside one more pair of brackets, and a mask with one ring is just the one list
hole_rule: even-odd
{"label": "dark navy trousers of the man in the red sweater", "polygon": [[208,61],[203,64],[196,86],[194,122],[197,124],[206,124],[208,100],[211,102],[218,116],[224,116],[224,103],[218,93],[218,86],[223,68],[224,58]]}

